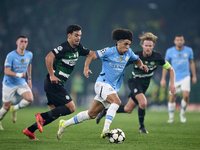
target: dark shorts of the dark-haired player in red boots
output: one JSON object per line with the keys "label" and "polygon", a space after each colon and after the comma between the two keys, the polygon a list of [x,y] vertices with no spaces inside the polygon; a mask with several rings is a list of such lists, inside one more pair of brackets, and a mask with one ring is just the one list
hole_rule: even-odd
{"label": "dark shorts of the dark-haired player in red boots", "polygon": [[72,101],[71,96],[67,93],[61,83],[51,83],[47,76],[44,81],[44,90],[47,96],[47,105],[53,104],[54,106],[64,106]]}

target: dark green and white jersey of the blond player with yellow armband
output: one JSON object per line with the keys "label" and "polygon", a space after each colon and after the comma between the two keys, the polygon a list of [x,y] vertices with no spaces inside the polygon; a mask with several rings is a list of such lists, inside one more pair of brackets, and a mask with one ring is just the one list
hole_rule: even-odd
{"label": "dark green and white jersey of the blond player with yellow armband", "polygon": [[152,51],[152,55],[149,57],[144,57],[142,53],[143,51],[135,52],[136,55],[139,55],[139,58],[142,60],[143,64],[148,66],[149,71],[145,72],[144,70],[139,69],[135,64],[133,64],[133,71],[130,75],[130,78],[135,78],[140,83],[148,86],[151,77],[153,76],[154,71],[157,69],[158,66],[169,69],[171,65],[167,61],[165,61],[164,57],[160,53],[156,51]]}

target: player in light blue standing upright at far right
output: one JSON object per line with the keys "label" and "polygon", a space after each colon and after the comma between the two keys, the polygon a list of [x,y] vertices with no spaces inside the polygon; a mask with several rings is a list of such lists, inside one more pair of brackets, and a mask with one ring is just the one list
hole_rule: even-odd
{"label": "player in light blue standing upright at far right", "polygon": [[[185,110],[186,106],[189,103],[189,94],[190,94],[190,72],[192,74],[192,83],[197,82],[196,70],[194,63],[194,56],[192,48],[184,45],[185,40],[183,35],[176,35],[174,39],[175,46],[167,49],[165,58],[167,61],[171,62],[172,67],[175,71],[175,87],[176,93],[170,93],[169,103],[168,103],[168,112],[169,120],[168,123],[174,121],[174,111],[176,107],[176,97],[177,93],[182,91],[183,98],[181,100],[181,111],[180,111],[180,121],[182,123],[186,122]],[[163,70],[161,86],[166,86],[166,75],[167,71]]]}

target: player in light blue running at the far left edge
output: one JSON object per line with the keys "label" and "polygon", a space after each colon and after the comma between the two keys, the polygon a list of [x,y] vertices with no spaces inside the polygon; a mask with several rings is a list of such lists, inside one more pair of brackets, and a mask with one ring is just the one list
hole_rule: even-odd
{"label": "player in light blue running at the far left edge", "polygon": [[[30,105],[33,102],[32,94],[32,58],[33,54],[26,50],[28,38],[19,36],[17,41],[17,49],[8,53],[4,64],[4,78],[2,87],[3,107],[0,109],[0,129],[3,130],[1,120],[10,109],[12,113],[13,123],[17,120],[17,110]],[[26,74],[28,84],[26,82]],[[17,104],[11,106],[12,98],[18,93],[23,99]]]}

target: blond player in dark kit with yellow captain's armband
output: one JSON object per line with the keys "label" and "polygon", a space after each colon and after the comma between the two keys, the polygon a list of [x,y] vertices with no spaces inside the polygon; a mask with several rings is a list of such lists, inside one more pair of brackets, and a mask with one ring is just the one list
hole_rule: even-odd
{"label": "blond player in dark kit with yellow captain's armband", "polygon": [[[133,110],[138,106],[138,120],[139,120],[139,133],[149,133],[144,125],[144,120],[146,116],[147,98],[145,93],[149,87],[151,78],[155,70],[162,66],[170,72],[170,86],[169,91],[174,93],[175,91],[175,73],[174,69],[171,67],[169,62],[167,62],[164,57],[154,50],[157,36],[151,32],[142,32],[139,35],[140,45],[142,51],[136,51],[135,54],[140,57],[142,62],[149,68],[148,72],[139,69],[133,62],[128,64],[133,64],[133,70],[131,72],[130,78],[128,80],[128,87],[130,89],[130,94],[128,95],[129,100],[126,105],[120,105],[117,113],[132,113]],[[97,116],[96,123],[98,124],[102,117],[105,116],[107,109],[104,109]]]}

